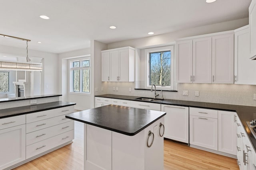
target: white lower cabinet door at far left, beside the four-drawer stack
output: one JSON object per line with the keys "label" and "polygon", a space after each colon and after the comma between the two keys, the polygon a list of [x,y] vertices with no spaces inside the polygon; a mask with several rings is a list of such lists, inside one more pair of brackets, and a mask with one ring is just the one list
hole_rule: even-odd
{"label": "white lower cabinet door at far left, beside the four-drawer stack", "polygon": [[[24,115],[25,117],[25,115]],[[12,117],[14,118],[14,117]],[[26,125],[0,130],[0,169],[26,159]]]}

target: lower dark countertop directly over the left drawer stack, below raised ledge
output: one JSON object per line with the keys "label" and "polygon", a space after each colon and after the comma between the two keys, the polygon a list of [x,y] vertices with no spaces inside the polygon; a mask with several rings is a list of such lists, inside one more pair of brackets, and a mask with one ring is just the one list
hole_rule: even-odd
{"label": "lower dark countertop directly over the left drawer stack, below raised ledge", "polygon": [[50,103],[44,103],[44,104],[35,104],[30,106],[0,109],[0,119],[5,117],[24,115],[28,113],[34,113],[38,111],[56,109],[59,107],[66,107],[66,106],[72,106],[72,105],[75,105],[75,103],[58,101],[58,102],[50,102]]}

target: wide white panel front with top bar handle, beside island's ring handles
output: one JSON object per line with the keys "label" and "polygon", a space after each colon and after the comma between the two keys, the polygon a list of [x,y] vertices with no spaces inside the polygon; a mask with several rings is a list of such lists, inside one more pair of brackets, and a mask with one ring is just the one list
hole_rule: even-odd
{"label": "wide white panel front with top bar handle, beside island's ring handles", "polygon": [[188,143],[188,107],[162,105],[161,110],[166,112],[164,117],[164,137]]}

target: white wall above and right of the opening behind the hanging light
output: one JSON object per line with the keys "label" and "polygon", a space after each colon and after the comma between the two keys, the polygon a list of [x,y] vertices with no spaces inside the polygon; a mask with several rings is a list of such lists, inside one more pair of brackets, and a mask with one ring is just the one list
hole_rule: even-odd
{"label": "white wall above and right of the opening behind the hanging light", "polygon": [[[26,57],[26,49],[0,45],[0,53]],[[43,58],[41,93],[58,94],[58,55],[28,49],[29,57]]]}

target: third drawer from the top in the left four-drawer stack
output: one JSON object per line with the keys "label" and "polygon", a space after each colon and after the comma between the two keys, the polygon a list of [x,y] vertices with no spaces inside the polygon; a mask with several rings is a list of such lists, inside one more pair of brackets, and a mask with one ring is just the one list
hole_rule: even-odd
{"label": "third drawer from the top in the left four-drawer stack", "polygon": [[41,129],[39,131],[35,131],[32,133],[28,133],[26,134],[26,146],[31,145],[33,143],[37,143],[44,139],[48,139],[50,137],[54,137],[61,133],[65,133],[67,131],[71,131],[73,129],[74,129],[74,121],[68,121],[66,123],[48,127],[46,129]]}

